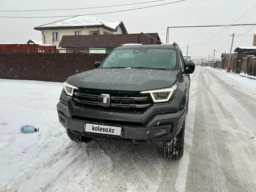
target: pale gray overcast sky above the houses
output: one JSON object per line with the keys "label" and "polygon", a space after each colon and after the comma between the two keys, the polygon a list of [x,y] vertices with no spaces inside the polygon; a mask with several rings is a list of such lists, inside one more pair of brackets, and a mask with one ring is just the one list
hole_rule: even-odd
{"label": "pale gray overcast sky above the houses", "polygon": [[[132,3],[145,2],[141,0],[0,0],[0,10],[13,9],[55,9],[55,8],[77,8],[91,5],[106,5],[111,3]],[[150,0],[152,1],[152,0]],[[113,10],[122,10],[138,8],[142,6],[157,5],[160,3],[145,3],[141,5],[123,6],[117,8],[103,9],[84,9],[58,12],[19,12],[9,13],[0,12],[0,16],[55,16],[55,15],[80,15],[89,13],[109,12]],[[187,0],[185,2],[157,6],[155,8],[133,10],[122,13],[111,13],[106,15],[96,15],[104,21],[123,21],[128,33],[154,33],[157,32],[161,41],[166,41],[166,27],[182,25],[203,25],[203,24],[232,24],[236,19],[246,13],[250,8],[256,5],[255,0]],[[256,7],[247,15],[239,19],[236,24],[256,23]],[[40,31],[33,28],[60,20],[60,18],[40,18],[40,19],[6,19],[0,18],[0,42],[26,42],[29,39],[41,40]],[[220,58],[221,52],[230,51],[230,34],[243,35],[253,26],[244,27],[226,27],[222,33],[216,35],[208,41],[209,37],[221,31],[222,27],[215,28],[197,28],[197,29],[171,29],[170,42],[177,42],[182,48],[183,54],[186,55],[186,47],[189,44],[189,55],[192,56],[210,56],[216,49],[216,58]],[[256,34],[256,27],[243,37],[234,38],[234,48],[241,46],[253,45],[253,34]],[[219,41],[217,41],[219,40]],[[205,41],[205,42],[203,42]],[[215,42],[212,42],[215,41]],[[227,44],[229,41],[229,44]],[[210,42],[210,43],[208,43]],[[208,44],[206,44],[208,43]],[[200,45],[201,46],[195,46]],[[227,44],[227,45],[226,45]],[[223,48],[226,45],[225,48]]]}

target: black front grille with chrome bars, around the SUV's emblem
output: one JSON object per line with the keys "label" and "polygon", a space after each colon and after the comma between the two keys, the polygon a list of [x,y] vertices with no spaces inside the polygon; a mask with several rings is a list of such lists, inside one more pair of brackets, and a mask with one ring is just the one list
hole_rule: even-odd
{"label": "black front grille with chrome bars, around the SUV's emblem", "polygon": [[104,91],[81,89],[74,91],[74,101],[79,105],[101,106],[101,94],[110,95],[108,108],[145,109],[150,107],[150,95],[127,91]]}

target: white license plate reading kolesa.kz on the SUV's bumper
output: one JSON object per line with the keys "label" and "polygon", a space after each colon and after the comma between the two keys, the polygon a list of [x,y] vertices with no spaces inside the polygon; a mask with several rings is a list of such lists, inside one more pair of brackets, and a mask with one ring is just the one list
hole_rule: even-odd
{"label": "white license plate reading kolesa.kz on the SUV's bumper", "polygon": [[90,133],[111,134],[113,136],[121,136],[122,127],[86,123],[84,124],[84,131]]}

